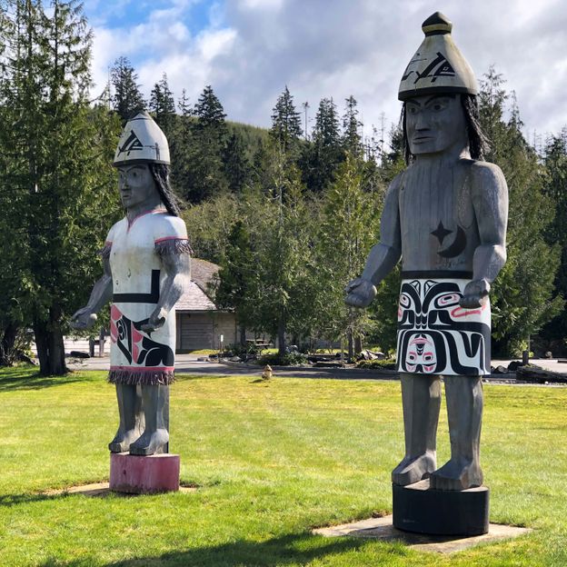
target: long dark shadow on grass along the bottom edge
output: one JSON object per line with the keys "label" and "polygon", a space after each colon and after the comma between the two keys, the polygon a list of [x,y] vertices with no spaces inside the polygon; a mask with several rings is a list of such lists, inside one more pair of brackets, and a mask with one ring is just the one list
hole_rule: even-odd
{"label": "long dark shadow on grass along the bottom edge", "polygon": [[[163,555],[138,557],[120,562],[105,563],[105,567],[142,567],[143,565],[166,565],[169,567],[274,567],[274,565],[305,565],[327,555],[357,551],[368,545],[367,540],[355,538],[325,538],[309,533],[284,535],[266,542],[240,540],[213,547],[200,547],[194,550],[169,552]],[[396,550],[389,545],[389,556],[398,552],[404,554],[402,546]],[[89,559],[89,561],[94,558]],[[98,564],[94,561],[95,564]],[[42,567],[55,565],[79,567],[90,564],[82,560],[75,562],[42,563]]]}

